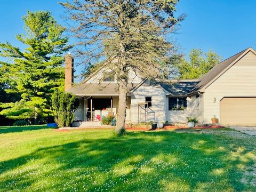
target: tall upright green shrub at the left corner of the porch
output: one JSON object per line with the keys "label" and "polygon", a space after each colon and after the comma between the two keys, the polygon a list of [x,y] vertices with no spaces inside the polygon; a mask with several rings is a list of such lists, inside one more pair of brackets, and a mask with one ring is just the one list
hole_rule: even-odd
{"label": "tall upright green shrub at the left corner of the porch", "polygon": [[55,91],[52,94],[52,109],[54,121],[59,127],[70,126],[74,121],[75,110],[79,107],[80,100],[71,93]]}

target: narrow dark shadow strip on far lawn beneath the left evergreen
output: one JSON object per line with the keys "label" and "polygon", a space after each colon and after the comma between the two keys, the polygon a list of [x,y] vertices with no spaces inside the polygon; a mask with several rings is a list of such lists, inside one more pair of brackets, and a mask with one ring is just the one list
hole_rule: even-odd
{"label": "narrow dark shadow strip on far lawn beneath the left evergreen", "polygon": [[34,125],[34,126],[0,126],[0,134],[2,133],[14,133],[22,131],[33,131],[41,129],[52,129],[46,125]]}

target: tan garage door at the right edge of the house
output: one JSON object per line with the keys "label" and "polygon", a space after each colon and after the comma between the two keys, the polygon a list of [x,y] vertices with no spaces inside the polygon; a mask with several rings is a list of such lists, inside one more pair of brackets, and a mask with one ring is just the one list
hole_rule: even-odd
{"label": "tan garage door at the right edge of the house", "polygon": [[256,98],[223,98],[220,101],[220,123],[256,124]]}

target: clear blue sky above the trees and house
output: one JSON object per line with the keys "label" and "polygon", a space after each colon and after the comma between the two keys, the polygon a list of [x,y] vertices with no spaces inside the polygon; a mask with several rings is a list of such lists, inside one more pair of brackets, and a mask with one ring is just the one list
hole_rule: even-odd
{"label": "clear blue sky above the trees and house", "polygon": [[[27,10],[49,10],[65,25],[61,0],[0,0],[0,42],[21,46],[15,35],[23,33],[21,17]],[[247,47],[256,48],[255,0],[181,0],[177,14],[186,13],[178,34],[174,35],[181,52],[192,48],[212,49],[226,59]]]}

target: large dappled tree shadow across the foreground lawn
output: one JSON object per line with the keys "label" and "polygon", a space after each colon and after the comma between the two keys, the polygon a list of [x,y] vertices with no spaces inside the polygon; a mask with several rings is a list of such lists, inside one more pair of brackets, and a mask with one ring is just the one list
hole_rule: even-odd
{"label": "large dappled tree shadow across the foreground lawn", "polygon": [[[130,132],[42,147],[0,163],[0,188],[61,191],[241,191],[239,167],[253,159],[231,155],[210,135]],[[242,157],[242,158],[241,158]],[[240,170],[241,171],[241,170]]]}

